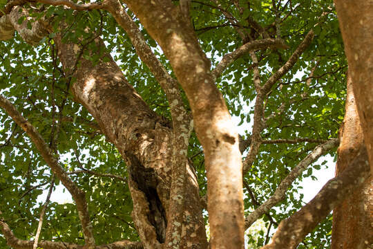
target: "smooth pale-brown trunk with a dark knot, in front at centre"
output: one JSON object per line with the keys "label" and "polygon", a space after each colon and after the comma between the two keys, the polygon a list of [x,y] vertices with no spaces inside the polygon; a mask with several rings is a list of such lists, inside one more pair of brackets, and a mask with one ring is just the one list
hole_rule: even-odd
{"label": "smooth pale-brown trunk with a dark knot, in front at centre", "polygon": [[238,133],[214,84],[209,59],[180,8],[171,1],[125,2],[162,47],[191,104],[207,168],[211,246],[241,249],[244,222]]}

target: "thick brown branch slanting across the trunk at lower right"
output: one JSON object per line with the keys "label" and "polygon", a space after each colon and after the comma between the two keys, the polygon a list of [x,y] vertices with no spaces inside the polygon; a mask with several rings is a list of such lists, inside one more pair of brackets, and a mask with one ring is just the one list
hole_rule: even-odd
{"label": "thick brown branch slanting across the trunk at lower right", "polygon": [[367,149],[362,146],[354,161],[341,173],[329,180],[312,201],[288,219],[281,221],[272,242],[262,249],[293,249],[314,230],[345,197],[363,185],[370,176]]}

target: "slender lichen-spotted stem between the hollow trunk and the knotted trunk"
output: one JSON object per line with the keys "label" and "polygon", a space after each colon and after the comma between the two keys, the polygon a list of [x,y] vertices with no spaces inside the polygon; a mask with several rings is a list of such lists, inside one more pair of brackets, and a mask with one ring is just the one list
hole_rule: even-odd
{"label": "slender lichen-spotted stem between the hollow trunk and the knotted trunk", "polygon": [[[187,14],[189,1],[183,1],[184,17]],[[162,63],[155,57],[151,48],[146,44],[144,36],[140,32],[137,24],[131,19],[124,10],[122,4],[118,0],[107,0],[104,3],[105,9],[111,12],[111,15],[117,20],[117,23],[126,30],[126,33],[131,39],[133,46],[139,55],[140,59],[149,66],[151,72],[160,83],[160,86],[166,93],[169,101],[171,116],[173,121],[173,147],[174,153],[172,156],[172,176],[171,176],[171,193],[169,206],[168,225],[166,228],[166,248],[169,246],[178,246],[181,241],[181,223],[183,219],[184,208],[184,182],[187,179],[187,147],[189,144],[189,136],[191,133],[191,124],[189,114],[187,113],[184,102],[180,94],[178,82],[174,80]]]}

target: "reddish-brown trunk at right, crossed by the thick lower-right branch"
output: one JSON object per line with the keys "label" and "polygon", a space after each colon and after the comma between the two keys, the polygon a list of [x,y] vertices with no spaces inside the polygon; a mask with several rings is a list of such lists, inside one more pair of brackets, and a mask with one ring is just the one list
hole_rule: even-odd
{"label": "reddish-brown trunk at right, crossed by the thick lower-right branch", "polygon": [[[336,176],[340,175],[363,146],[350,74],[347,77],[346,113],[341,127]],[[367,178],[353,194],[333,210],[332,249],[369,248],[373,246],[373,177]]]}

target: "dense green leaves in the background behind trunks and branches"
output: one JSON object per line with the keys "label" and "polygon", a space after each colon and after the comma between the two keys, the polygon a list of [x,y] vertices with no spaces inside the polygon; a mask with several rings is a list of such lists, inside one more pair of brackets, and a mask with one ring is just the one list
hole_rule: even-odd
{"label": "dense green leaves in the background behind trunks and branches", "polygon": [[[5,3],[1,3],[2,6]],[[219,8],[211,1],[192,1],[191,20],[200,46],[211,59],[212,66],[218,64],[223,55],[231,53],[242,45],[235,28],[222,15],[221,9],[231,12],[239,25],[255,35],[249,28],[248,17],[258,21],[267,32],[275,33],[275,12],[271,1],[240,1],[249,5],[240,12],[226,1]],[[345,100],[345,71],[347,62],[343,53],[343,42],[338,29],[338,20],[332,1],[281,1],[281,37],[289,46],[287,50],[267,49],[257,52],[262,81],[282,66],[305,34],[314,28],[315,38],[311,46],[300,57],[269,93],[265,104],[265,116],[278,112],[281,104],[287,104],[285,111],[271,118],[262,132],[265,139],[316,138],[328,139],[338,136],[338,128],[343,120]],[[41,6],[44,12],[32,15],[55,17],[55,32],[63,29],[66,42],[78,42],[81,48],[92,46],[88,25],[106,42],[115,61],[122,68],[128,82],[157,113],[170,118],[169,104],[153,75],[135,53],[126,33],[113,17],[106,12],[93,10],[75,12],[62,7]],[[327,15],[323,15],[327,12]],[[131,11],[128,13],[133,16]],[[133,17],[135,19],[135,17]],[[59,21],[66,20],[68,26],[61,28]],[[318,24],[315,26],[315,24]],[[141,27],[141,24],[139,24]],[[71,27],[75,28],[72,33]],[[171,66],[146,30],[142,29],[147,42],[155,55],[171,72]],[[0,42],[0,92],[11,99],[17,109],[44,136],[52,149],[61,158],[68,172],[79,167],[99,173],[111,173],[126,177],[126,165],[117,150],[97,129],[89,113],[75,102],[68,92],[73,78],[64,75],[57,59],[57,51],[52,38],[54,33],[43,39],[36,47],[29,46],[16,35],[15,39]],[[84,54],[93,61],[99,57]],[[312,68],[314,77],[307,86],[307,77]],[[77,65],[79,66],[79,65]],[[243,124],[250,122],[256,92],[253,84],[252,62],[249,55],[236,60],[218,78],[218,89],[227,100],[233,116],[241,118]],[[307,93],[307,94],[305,94]],[[184,98],[187,103],[187,99]],[[246,127],[245,127],[246,128]],[[247,133],[249,137],[251,127]],[[56,139],[55,139],[56,138]],[[56,142],[53,142],[53,141]],[[49,187],[50,169],[39,156],[30,139],[15,122],[0,110],[0,199],[1,211],[6,221],[20,239],[30,239],[35,235],[37,219],[43,203],[37,203],[37,196]],[[314,143],[265,144],[251,170],[245,175],[245,212],[256,207],[250,198],[249,190],[258,203],[270,196],[280,181],[300,160],[316,147]],[[192,133],[189,157],[198,175],[200,192],[206,193],[204,158],[195,133]],[[332,152],[334,155],[335,151]],[[312,165],[303,177],[311,176],[320,165]],[[131,196],[128,187],[117,179],[94,176],[87,173],[72,174],[74,181],[86,191],[90,216],[96,232],[97,243],[109,243],[120,239],[138,239],[131,220]],[[272,219],[277,223],[302,206],[302,195],[298,194],[299,178],[288,190],[287,198],[271,210]],[[38,186],[39,187],[35,187]],[[58,181],[57,181],[58,185]],[[265,227],[269,218],[263,216]],[[300,244],[299,248],[328,248],[332,217],[329,216],[313,234]],[[51,203],[41,239],[57,241],[81,241],[82,232],[75,206],[70,203]],[[272,226],[272,229],[276,225]],[[254,236],[254,235],[253,235]],[[249,248],[262,246],[267,232],[258,232],[257,239],[249,235]],[[7,248],[5,239],[0,236],[0,247]]]}

